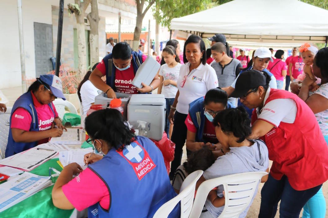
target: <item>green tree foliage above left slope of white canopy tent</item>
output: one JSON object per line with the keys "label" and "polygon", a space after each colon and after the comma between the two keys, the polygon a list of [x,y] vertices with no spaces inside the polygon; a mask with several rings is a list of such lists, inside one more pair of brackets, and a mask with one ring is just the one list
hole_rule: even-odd
{"label": "green tree foliage above left slope of white canopy tent", "polygon": [[216,6],[212,0],[157,0],[155,4],[157,7],[153,7],[154,18],[169,29],[170,22],[175,17],[183,17]]}

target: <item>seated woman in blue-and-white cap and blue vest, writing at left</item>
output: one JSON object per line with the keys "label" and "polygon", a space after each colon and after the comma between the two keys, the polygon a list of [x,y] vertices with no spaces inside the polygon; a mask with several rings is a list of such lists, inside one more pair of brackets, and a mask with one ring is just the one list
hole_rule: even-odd
{"label": "seated woman in blue-and-white cap and blue vest, writing at left", "polygon": [[66,100],[61,79],[47,74],[36,78],[28,91],[15,101],[10,115],[6,157],[63,134],[66,128],[52,103],[56,98]]}

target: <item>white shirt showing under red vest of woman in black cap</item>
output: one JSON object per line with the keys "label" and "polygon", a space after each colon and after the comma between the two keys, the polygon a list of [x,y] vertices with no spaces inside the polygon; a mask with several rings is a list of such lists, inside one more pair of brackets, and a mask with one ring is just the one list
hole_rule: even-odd
{"label": "white shirt showing under red vest of woman in black cap", "polygon": [[294,123],[297,114],[296,102],[293,99],[275,99],[266,104],[270,90],[269,87],[264,97],[262,109],[256,108],[257,118],[268,121],[275,127],[278,127],[280,122]]}

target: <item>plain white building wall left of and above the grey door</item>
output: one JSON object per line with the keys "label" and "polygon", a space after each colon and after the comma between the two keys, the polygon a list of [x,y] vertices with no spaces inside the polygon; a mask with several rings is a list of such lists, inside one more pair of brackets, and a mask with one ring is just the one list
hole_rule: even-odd
{"label": "plain white building wall left of and above the grey door", "polygon": [[[21,85],[17,1],[2,0],[0,8],[0,88]],[[34,22],[51,24],[51,5],[44,0],[22,1],[25,69],[35,77]]]}

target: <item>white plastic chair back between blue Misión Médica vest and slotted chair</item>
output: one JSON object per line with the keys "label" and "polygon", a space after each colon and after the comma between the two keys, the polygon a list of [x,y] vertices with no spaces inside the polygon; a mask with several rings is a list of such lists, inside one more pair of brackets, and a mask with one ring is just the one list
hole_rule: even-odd
{"label": "white plastic chair back between blue Misi\u00f3n M\u00e9dica vest and slotted chair", "polygon": [[[190,173],[187,178],[183,181],[182,186],[185,188],[180,193],[172,198],[170,201],[163,204],[154,214],[153,218],[167,218],[174,207],[179,203],[181,205],[181,218],[188,218],[191,209],[193,207],[196,182],[199,177],[203,174],[202,170],[197,170]],[[181,186],[181,187],[182,187]]]}

